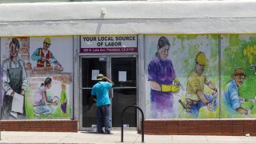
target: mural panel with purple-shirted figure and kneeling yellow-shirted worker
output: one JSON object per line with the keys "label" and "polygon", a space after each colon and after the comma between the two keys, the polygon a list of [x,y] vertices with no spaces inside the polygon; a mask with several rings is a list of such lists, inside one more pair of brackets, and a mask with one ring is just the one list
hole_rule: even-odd
{"label": "mural panel with purple-shirted figure and kneeling yellow-shirted worker", "polygon": [[146,118],[218,118],[218,34],[146,36]]}

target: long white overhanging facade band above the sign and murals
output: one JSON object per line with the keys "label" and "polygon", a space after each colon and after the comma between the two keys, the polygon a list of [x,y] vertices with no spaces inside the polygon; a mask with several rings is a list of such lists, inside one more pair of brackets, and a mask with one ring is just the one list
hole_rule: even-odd
{"label": "long white overhanging facade band above the sign and murals", "polygon": [[255,7],[254,1],[1,4],[0,36],[255,33]]}

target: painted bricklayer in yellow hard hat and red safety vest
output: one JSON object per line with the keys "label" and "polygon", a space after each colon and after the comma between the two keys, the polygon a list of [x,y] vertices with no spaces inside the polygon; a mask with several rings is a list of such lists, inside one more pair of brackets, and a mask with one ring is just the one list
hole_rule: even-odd
{"label": "painted bricklayer in yellow hard hat and red safety vest", "polygon": [[32,60],[38,61],[37,67],[50,67],[51,63],[54,63],[54,65],[56,66],[62,67],[62,65],[54,57],[54,54],[50,52],[50,44],[50,38],[45,38],[45,40],[43,41],[43,47],[38,48],[31,55]]}

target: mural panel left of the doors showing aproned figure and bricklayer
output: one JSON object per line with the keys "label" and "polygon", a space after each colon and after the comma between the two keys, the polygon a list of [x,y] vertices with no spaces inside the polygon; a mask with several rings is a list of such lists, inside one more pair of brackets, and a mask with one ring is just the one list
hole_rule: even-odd
{"label": "mural panel left of the doors showing aproned figure and bricklayer", "polygon": [[72,47],[72,37],[1,38],[2,119],[71,118]]}

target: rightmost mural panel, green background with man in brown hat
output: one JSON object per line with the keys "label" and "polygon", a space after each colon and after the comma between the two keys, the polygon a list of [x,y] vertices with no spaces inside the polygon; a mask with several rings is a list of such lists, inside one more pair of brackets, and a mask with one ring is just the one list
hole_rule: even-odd
{"label": "rightmost mural panel, green background with man in brown hat", "polygon": [[256,35],[221,38],[222,118],[256,118]]}

